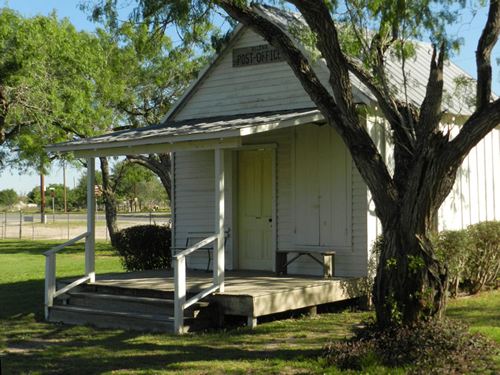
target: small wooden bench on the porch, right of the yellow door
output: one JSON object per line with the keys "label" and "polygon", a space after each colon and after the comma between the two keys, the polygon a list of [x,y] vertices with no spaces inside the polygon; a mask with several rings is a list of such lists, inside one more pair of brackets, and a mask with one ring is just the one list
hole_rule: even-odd
{"label": "small wooden bench on the porch, right of the yellow door", "polygon": [[[287,255],[296,254],[292,259],[287,261]],[[322,257],[319,260],[314,255]],[[301,256],[308,256],[316,263],[323,267],[323,276],[325,278],[333,277],[335,273],[335,251],[331,249],[318,249],[314,247],[297,247],[294,249],[279,249],[276,251],[276,273],[278,275],[286,275],[288,265],[295,262]]]}

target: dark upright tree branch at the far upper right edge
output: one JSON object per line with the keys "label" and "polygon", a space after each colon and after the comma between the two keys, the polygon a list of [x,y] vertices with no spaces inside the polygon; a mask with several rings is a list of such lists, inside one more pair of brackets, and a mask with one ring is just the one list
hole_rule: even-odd
{"label": "dark upright tree branch at the far upper right edge", "polygon": [[491,100],[491,51],[500,34],[500,0],[491,0],[488,20],[477,44],[477,98],[478,109],[486,106]]}

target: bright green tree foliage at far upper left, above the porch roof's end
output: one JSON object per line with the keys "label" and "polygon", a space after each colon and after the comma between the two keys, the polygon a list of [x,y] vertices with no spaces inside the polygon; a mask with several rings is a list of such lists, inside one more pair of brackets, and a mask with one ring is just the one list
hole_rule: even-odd
{"label": "bright green tree foliage at far upper left, above the porch roof's end", "polygon": [[71,23],[23,18],[0,10],[0,93],[5,100],[0,144],[18,150],[16,166],[44,169],[47,143],[92,135],[107,126],[112,111],[98,100],[109,81],[98,39]]}

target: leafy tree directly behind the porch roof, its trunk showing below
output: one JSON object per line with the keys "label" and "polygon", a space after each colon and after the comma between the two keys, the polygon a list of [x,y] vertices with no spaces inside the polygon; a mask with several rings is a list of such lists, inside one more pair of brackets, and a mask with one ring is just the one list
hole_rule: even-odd
{"label": "leafy tree directly behind the porch roof, its trunk showing below", "polygon": [[[202,25],[198,27],[203,30],[209,26],[205,23]],[[163,33],[151,35],[146,24],[128,21],[119,25],[105,23],[104,26],[98,31],[98,36],[106,51],[106,66],[113,77],[111,87],[114,88],[110,91],[106,90],[109,86],[102,86],[104,91],[100,97],[100,101],[114,114],[108,129],[139,128],[160,123],[172,103],[196,75],[204,61],[203,54],[195,56],[195,45],[190,40],[174,44]],[[157,174],[170,196],[170,154],[129,155],[128,159]],[[118,170],[115,169],[112,174],[109,160],[106,157],[100,157],[99,160],[106,224],[111,242],[114,243],[118,230]],[[130,167],[123,170],[128,169]]]}

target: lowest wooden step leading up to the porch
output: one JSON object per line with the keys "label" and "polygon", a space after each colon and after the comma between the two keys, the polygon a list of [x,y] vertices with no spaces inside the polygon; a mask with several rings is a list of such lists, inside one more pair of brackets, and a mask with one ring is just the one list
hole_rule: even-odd
{"label": "lowest wooden step leading up to the porch", "polygon": [[[119,328],[134,331],[173,332],[174,319],[169,316],[107,311],[77,306],[52,306],[50,322],[92,325],[100,328]],[[189,328],[187,327],[186,330]]]}

